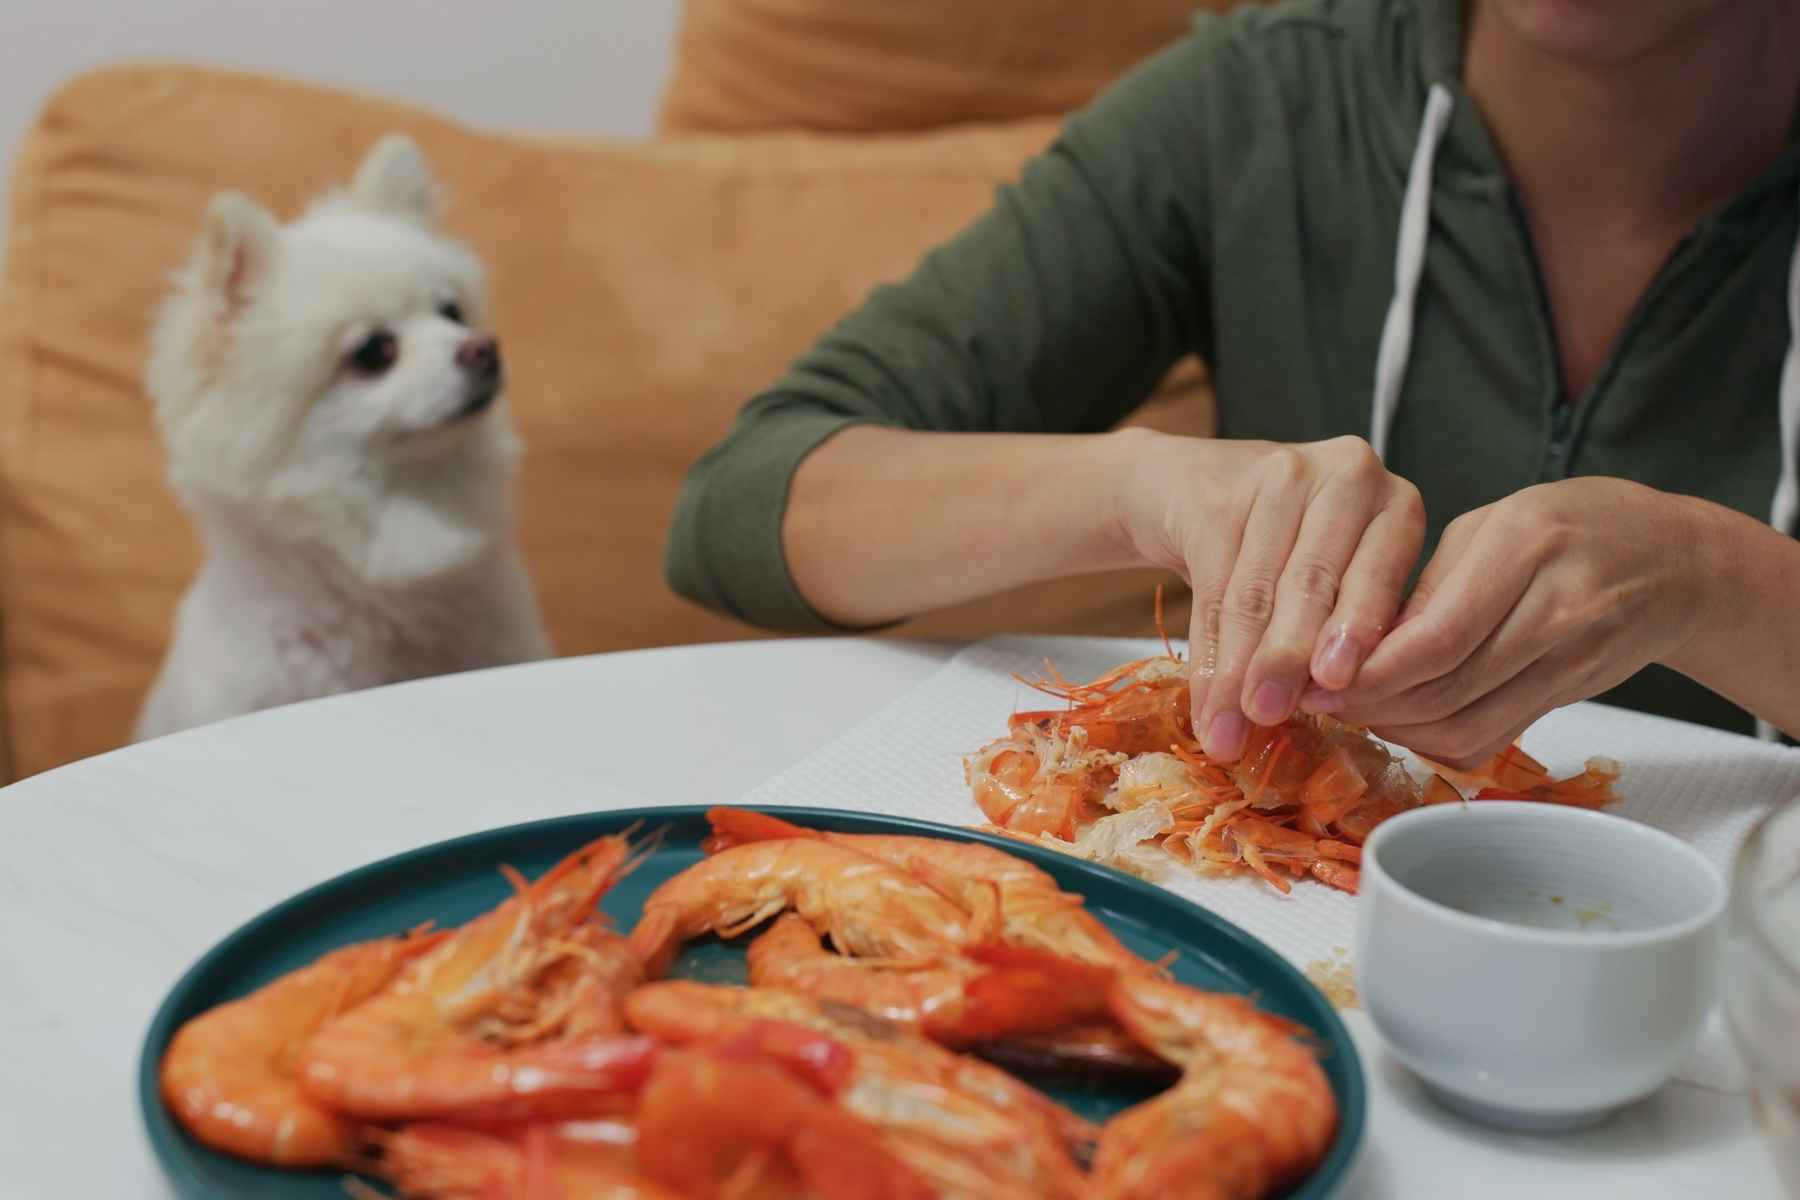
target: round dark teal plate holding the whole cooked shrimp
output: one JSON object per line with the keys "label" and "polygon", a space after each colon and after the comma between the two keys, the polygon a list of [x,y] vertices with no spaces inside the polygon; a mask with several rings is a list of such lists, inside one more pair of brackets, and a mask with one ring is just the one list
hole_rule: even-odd
{"label": "round dark teal plate holding the whole cooked shrimp", "polygon": [[[1300,1022],[1314,1033],[1319,1061],[1337,1096],[1341,1121],[1325,1160],[1285,1196],[1318,1200],[1330,1195],[1348,1173],[1363,1137],[1368,1103],[1363,1067],[1350,1034],[1318,988],[1237,925],[1111,867],[1096,867],[1010,838],[929,820],[828,808],[765,811],[817,829],[914,833],[995,846],[1037,864],[1066,891],[1080,894],[1087,909],[1143,957],[1163,959],[1174,952],[1172,970],[1179,981],[1213,991],[1253,995],[1260,1007]],[[209,950],[182,975],[157,1009],[139,1061],[139,1105],[144,1110],[149,1144],[176,1195],[194,1200],[212,1196],[344,1200],[347,1195],[342,1173],[250,1166],[200,1146],[175,1124],[157,1092],[157,1063],[182,1022],[214,1004],[254,991],[346,943],[396,934],[421,921],[437,925],[468,921],[511,894],[497,869],[500,864],[511,864],[527,876],[536,876],[576,846],[634,824],[643,829],[661,829],[662,840],[601,903],[607,916],[628,930],[650,891],[700,858],[700,840],[709,833],[706,808],[634,808],[533,820],[425,846],[310,887],[254,918]],[[711,982],[743,982],[743,941],[697,943],[682,954],[673,973]],[[1148,1096],[1143,1088],[1098,1079],[1060,1085],[1053,1079],[1031,1081],[1096,1121]]]}

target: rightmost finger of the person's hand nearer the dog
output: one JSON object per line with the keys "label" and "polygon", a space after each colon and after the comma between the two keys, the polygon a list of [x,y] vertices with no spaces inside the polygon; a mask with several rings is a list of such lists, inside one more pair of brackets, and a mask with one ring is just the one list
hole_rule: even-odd
{"label": "rightmost finger of the person's hand nearer the dog", "polygon": [[1397,622],[1406,579],[1426,542],[1418,489],[1393,480],[1386,504],[1368,522],[1345,569],[1337,604],[1318,631],[1309,673],[1316,687],[1343,691]]}

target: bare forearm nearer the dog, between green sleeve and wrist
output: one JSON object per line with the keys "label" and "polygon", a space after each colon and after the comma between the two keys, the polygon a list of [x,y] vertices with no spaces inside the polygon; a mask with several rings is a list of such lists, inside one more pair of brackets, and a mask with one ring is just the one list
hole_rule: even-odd
{"label": "bare forearm nearer the dog, between green sleeve and wrist", "polygon": [[878,624],[1138,560],[1121,434],[920,434],[851,426],[794,473],[781,543],[823,617]]}

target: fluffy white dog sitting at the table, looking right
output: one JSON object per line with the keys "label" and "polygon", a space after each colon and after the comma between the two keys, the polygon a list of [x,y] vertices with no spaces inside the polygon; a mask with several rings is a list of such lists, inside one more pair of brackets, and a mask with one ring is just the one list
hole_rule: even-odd
{"label": "fluffy white dog sitting at the table, looking right", "polygon": [[549,655],[481,266],[436,207],[389,137],[292,225],[234,193],[207,209],[149,360],[205,563],[139,738]]}

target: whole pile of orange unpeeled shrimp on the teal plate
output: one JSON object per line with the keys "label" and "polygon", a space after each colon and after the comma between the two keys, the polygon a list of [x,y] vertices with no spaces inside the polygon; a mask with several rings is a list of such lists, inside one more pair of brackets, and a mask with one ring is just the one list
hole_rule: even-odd
{"label": "whole pile of orange unpeeled shrimp on the teal plate", "polygon": [[[599,838],[461,928],[335,950],[189,1020],[200,1142],[423,1200],[1253,1200],[1325,1155],[1307,1031],[1177,984],[999,849],[711,813],[626,934]],[[736,937],[751,986],[662,979]],[[830,948],[826,946],[830,941]],[[1001,1063],[1163,1090],[1105,1124]]]}

